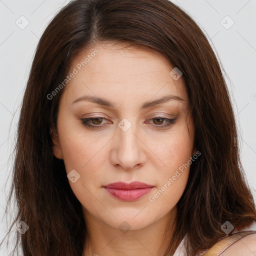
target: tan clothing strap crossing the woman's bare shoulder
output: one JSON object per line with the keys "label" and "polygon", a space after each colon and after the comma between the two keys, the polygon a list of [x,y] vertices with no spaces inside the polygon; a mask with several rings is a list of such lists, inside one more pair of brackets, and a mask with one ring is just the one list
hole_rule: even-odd
{"label": "tan clothing strap crossing the woman's bare shoulder", "polygon": [[242,237],[256,233],[256,230],[240,231],[234,234],[230,234],[223,239],[217,241],[211,248],[206,250],[202,256],[219,256],[230,245],[241,239]]}

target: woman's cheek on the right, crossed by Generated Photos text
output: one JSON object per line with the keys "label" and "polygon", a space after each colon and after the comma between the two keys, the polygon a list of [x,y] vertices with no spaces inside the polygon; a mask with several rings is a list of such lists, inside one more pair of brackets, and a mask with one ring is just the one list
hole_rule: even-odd
{"label": "woman's cheek on the right, crossed by Generated Photos text", "polygon": [[163,168],[157,171],[157,189],[154,189],[150,202],[161,207],[162,203],[173,207],[181,197],[187,184],[193,138],[188,132],[180,131],[169,136],[168,143],[157,147],[155,153],[159,155]]}

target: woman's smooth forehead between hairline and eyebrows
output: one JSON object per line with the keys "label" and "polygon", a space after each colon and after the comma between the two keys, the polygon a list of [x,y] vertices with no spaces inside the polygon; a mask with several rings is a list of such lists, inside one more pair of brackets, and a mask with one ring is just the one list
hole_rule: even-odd
{"label": "woman's smooth forehead between hairline and eyebrows", "polygon": [[65,87],[70,100],[82,94],[109,98],[112,95],[115,100],[119,96],[132,99],[132,95],[149,100],[164,94],[187,98],[182,76],[173,80],[169,74],[173,66],[162,54],[138,46],[123,46],[126,45],[96,44],[73,58],[69,73],[74,69],[77,73]]}

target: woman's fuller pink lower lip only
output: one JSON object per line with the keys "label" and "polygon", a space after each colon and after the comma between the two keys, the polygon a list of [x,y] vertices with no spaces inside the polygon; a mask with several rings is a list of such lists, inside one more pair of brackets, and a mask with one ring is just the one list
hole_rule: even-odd
{"label": "woman's fuller pink lower lip only", "polygon": [[104,187],[113,197],[123,201],[135,201],[150,192],[153,187],[136,189],[116,189]]}

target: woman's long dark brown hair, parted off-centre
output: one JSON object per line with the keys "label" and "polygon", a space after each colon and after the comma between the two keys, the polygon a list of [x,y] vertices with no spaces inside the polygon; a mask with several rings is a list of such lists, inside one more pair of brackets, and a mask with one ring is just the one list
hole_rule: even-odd
{"label": "woman's long dark brown hair, parted off-centre", "polygon": [[220,228],[225,221],[242,228],[256,220],[239,159],[230,95],[217,57],[198,25],[168,0],[74,0],[43,32],[22,101],[6,210],[14,192],[18,212],[10,229],[20,221],[29,226],[22,235],[16,232],[16,246],[21,241],[23,255],[83,252],[87,233],[81,204],[67,181],[63,160],[52,153],[50,128],[56,128],[64,88],[52,99],[47,95],[65,79],[74,56],[104,41],[160,52],[183,73],[194,142],[201,155],[190,166],[165,255],[174,253],[186,233],[187,255],[194,256],[225,236]]}

